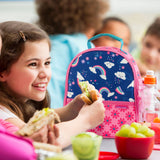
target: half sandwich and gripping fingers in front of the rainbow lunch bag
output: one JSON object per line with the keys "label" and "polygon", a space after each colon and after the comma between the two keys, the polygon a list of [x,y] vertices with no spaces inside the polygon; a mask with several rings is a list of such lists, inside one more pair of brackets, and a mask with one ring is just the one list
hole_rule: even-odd
{"label": "half sandwich and gripping fingers in front of the rainbow lunch bag", "polygon": [[105,108],[102,103],[102,95],[88,81],[80,82],[79,86],[82,91],[81,99],[86,104],[81,109],[79,116],[84,116],[86,123],[88,122],[88,126],[91,129],[101,124],[105,117]]}

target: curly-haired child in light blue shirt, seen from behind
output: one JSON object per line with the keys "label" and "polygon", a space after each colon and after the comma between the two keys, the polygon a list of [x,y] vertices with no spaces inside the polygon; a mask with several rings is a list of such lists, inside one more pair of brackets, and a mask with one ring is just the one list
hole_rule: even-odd
{"label": "curly-haired child in light blue shirt, seen from behind", "polygon": [[38,24],[52,44],[51,108],[63,106],[66,72],[71,60],[88,49],[87,41],[102,25],[108,0],[36,0]]}

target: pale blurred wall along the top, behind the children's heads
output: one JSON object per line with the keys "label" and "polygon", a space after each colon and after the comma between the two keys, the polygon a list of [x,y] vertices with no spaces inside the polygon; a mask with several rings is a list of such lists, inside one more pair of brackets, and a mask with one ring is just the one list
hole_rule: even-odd
{"label": "pale blurred wall along the top, behind the children's heads", "polygon": [[[75,0],[76,1],[76,0]],[[160,0],[109,0],[106,16],[119,16],[132,30],[133,41],[139,41],[148,25],[160,16]],[[37,15],[34,0],[0,0],[0,22],[20,20],[34,23]]]}

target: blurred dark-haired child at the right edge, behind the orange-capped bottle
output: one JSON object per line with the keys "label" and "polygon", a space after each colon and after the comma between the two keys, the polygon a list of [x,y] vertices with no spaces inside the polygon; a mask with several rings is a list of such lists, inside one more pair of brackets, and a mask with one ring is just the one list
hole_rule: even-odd
{"label": "blurred dark-haired child at the right edge, behind the orange-capped bottle", "polygon": [[160,89],[160,17],[148,27],[142,38],[140,51],[133,56],[142,77],[146,75],[147,70],[154,70],[158,89]]}

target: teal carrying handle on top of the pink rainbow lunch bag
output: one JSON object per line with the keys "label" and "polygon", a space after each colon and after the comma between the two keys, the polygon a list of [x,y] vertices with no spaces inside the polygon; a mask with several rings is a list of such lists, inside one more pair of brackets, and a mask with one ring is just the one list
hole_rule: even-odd
{"label": "teal carrying handle on top of the pink rainbow lunch bag", "polygon": [[100,38],[102,36],[109,36],[109,37],[111,37],[111,38],[113,38],[113,39],[115,39],[117,41],[120,41],[121,42],[121,48],[120,48],[120,50],[122,50],[123,40],[121,38],[119,38],[119,37],[117,37],[117,36],[115,36],[113,34],[109,34],[109,33],[100,33],[100,34],[97,34],[97,35],[93,36],[92,38],[90,38],[88,40],[88,42],[87,42],[88,49],[92,48],[91,41],[93,41],[93,40],[95,40],[97,38]]}

